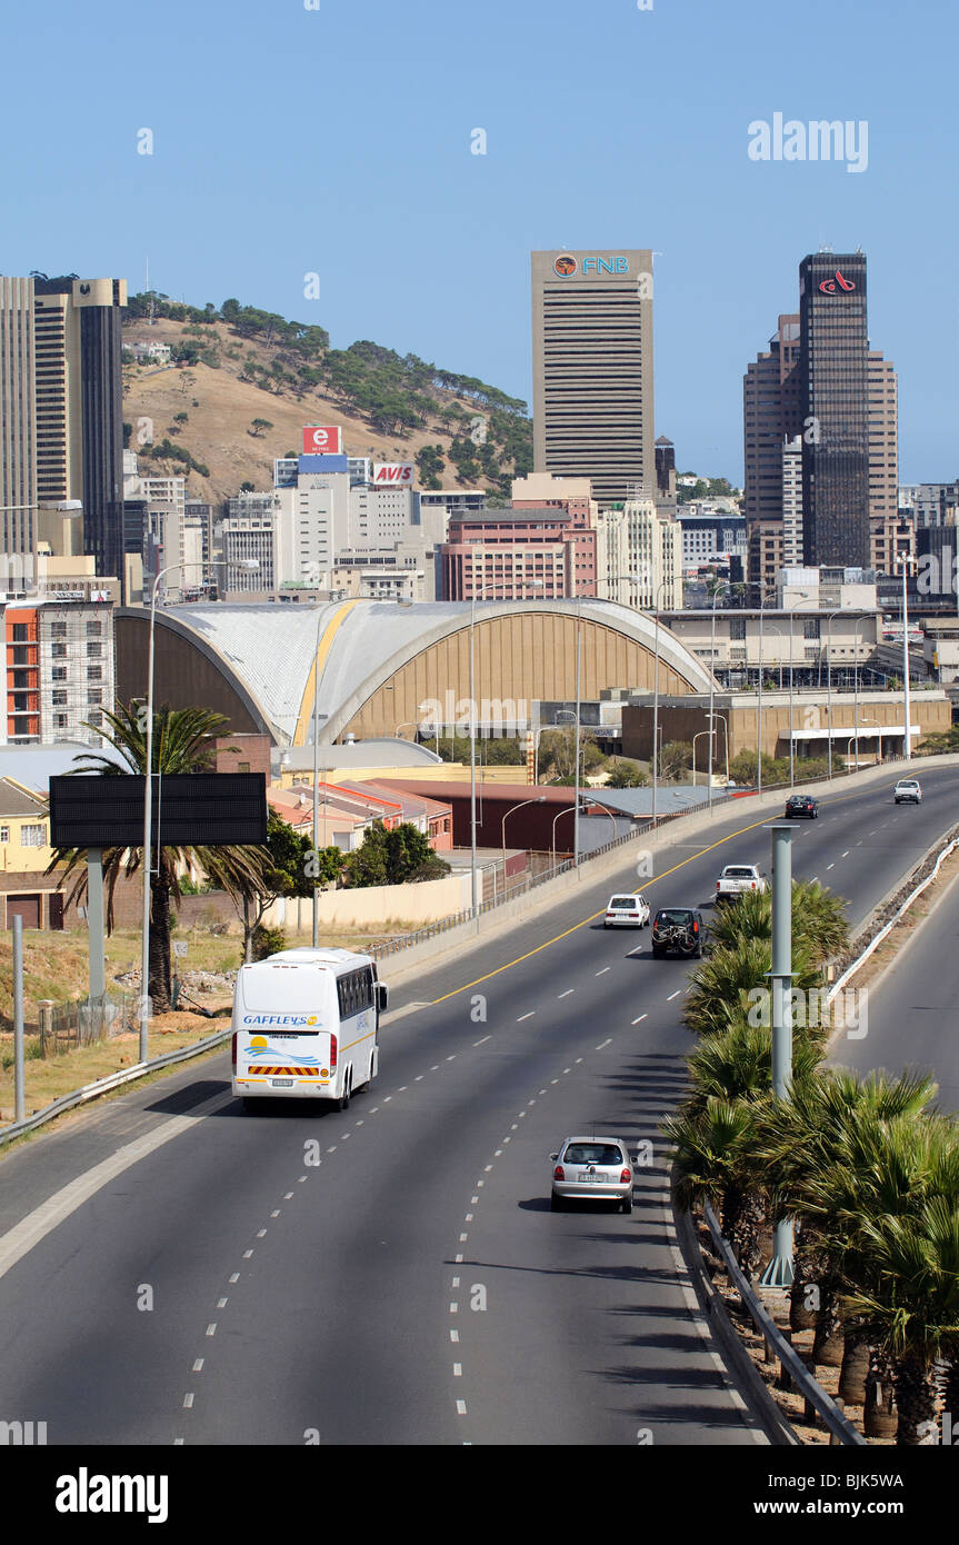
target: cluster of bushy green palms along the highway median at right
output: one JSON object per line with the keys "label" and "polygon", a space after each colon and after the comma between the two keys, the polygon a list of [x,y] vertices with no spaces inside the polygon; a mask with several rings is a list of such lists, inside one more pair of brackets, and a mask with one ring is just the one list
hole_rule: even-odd
{"label": "cluster of bushy green palms along the highway median at right", "polygon": [[[771,916],[768,893],[726,907],[690,978],[692,1088],[664,1123],[676,1202],[710,1202],[747,1276],[769,1258],[774,1224],[792,1217],[789,1321],[814,1327],[812,1366],[840,1367],[866,1437],[936,1443],[939,1411],[959,1411],[959,1128],[922,1072],[826,1066],[822,1014],[794,1017],[789,1097],[772,1097],[772,1031],[754,1007]],[[800,1003],[822,1001],[846,942],[842,899],[794,884]]]}

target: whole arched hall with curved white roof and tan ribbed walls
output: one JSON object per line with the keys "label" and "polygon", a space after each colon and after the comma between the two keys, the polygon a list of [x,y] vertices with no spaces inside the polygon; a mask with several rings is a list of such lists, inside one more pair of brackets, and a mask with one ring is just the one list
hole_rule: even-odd
{"label": "whole arched hall with curved white roof and tan ribbed walls", "polygon": [[[122,701],[145,695],[148,632],[147,610],[116,613]],[[154,701],[199,703],[280,746],[312,740],[313,708],[327,742],[392,735],[437,714],[451,723],[468,714],[457,705],[469,695],[473,633],[477,723],[511,728],[536,700],[576,697],[578,632],[584,700],[607,688],[652,692],[656,643],[662,695],[709,691],[709,672],[678,638],[607,601],[352,599],[158,610]]]}

